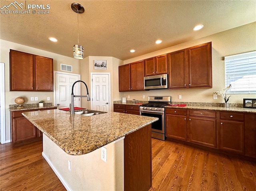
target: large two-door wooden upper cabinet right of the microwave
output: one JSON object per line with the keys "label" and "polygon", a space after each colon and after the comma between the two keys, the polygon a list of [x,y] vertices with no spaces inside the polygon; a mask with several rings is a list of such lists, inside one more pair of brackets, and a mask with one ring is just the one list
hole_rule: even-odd
{"label": "large two-door wooden upper cabinet right of the microwave", "polygon": [[212,87],[212,43],[168,53],[169,88]]}

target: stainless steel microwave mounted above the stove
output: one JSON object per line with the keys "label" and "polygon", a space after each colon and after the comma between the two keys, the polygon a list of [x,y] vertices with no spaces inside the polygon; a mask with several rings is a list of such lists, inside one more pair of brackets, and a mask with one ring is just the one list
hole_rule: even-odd
{"label": "stainless steel microwave mounted above the stove", "polygon": [[166,89],[168,88],[167,74],[144,77],[144,89]]}

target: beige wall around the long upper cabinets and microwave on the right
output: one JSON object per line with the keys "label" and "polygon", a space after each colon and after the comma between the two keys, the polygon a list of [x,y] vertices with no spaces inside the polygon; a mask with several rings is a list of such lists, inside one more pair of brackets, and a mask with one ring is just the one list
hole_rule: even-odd
{"label": "beige wall around the long upper cabinets and microwave on the right", "polygon": [[[203,30],[203,29],[202,29]],[[157,55],[174,52],[202,43],[212,41],[212,88],[211,89],[180,89],[180,90],[150,90],[150,91],[130,91],[125,92],[124,96],[130,99],[147,100],[147,96],[172,96],[172,101],[180,102],[224,102],[218,97],[213,99],[214,91],[222,91],[225,88],[224,79],[224,56],[234,55],[256,50],[256,22],[240,26],[231,30],[216,33],[201,39],[188,41],[173,47],[161,49],[146,55],[135,57],[124,61],[124,64],[147,59]],[[164,42],[163,42],[164,43]],[[145,95],[146,98],[142,99]],[[178,99],[178,95],[182,95],[182,99]],[[232,95],[230,103],[242,103],[243,98],[256,98],[256,95]],[[120,98],[116,98],[120,100]]]}

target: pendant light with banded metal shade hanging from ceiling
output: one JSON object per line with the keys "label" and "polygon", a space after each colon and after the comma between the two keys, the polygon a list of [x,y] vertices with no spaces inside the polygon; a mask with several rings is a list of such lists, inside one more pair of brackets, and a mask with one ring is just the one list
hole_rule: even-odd
{"label": "pendant light with banded metal shade hanging from ceiling", "polygon": [[84,7],[79,3],[72,3],[71,8],[74,12],[77,13],[77,44],[73,46],[73,57],[76,59],[83,59],[84,58],[84,47],[79,45],[79,21],[78,21],[78,14],[84,12]]}

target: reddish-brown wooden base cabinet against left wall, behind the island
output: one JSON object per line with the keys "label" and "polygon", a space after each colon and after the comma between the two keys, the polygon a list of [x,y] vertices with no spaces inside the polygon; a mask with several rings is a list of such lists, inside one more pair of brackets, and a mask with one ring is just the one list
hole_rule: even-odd
{"label": "reddish-brown wooden base cabinet against left wall, behind the island", "polygon": [[[56,109],[56,107],[51,109]],[[48,110],[48,108],[40,110]],[[34,142],[42,139],[42,132],[22,115],[23,112],[28,111],[38,112],[38,109],[11,111],[12,144]]]}

